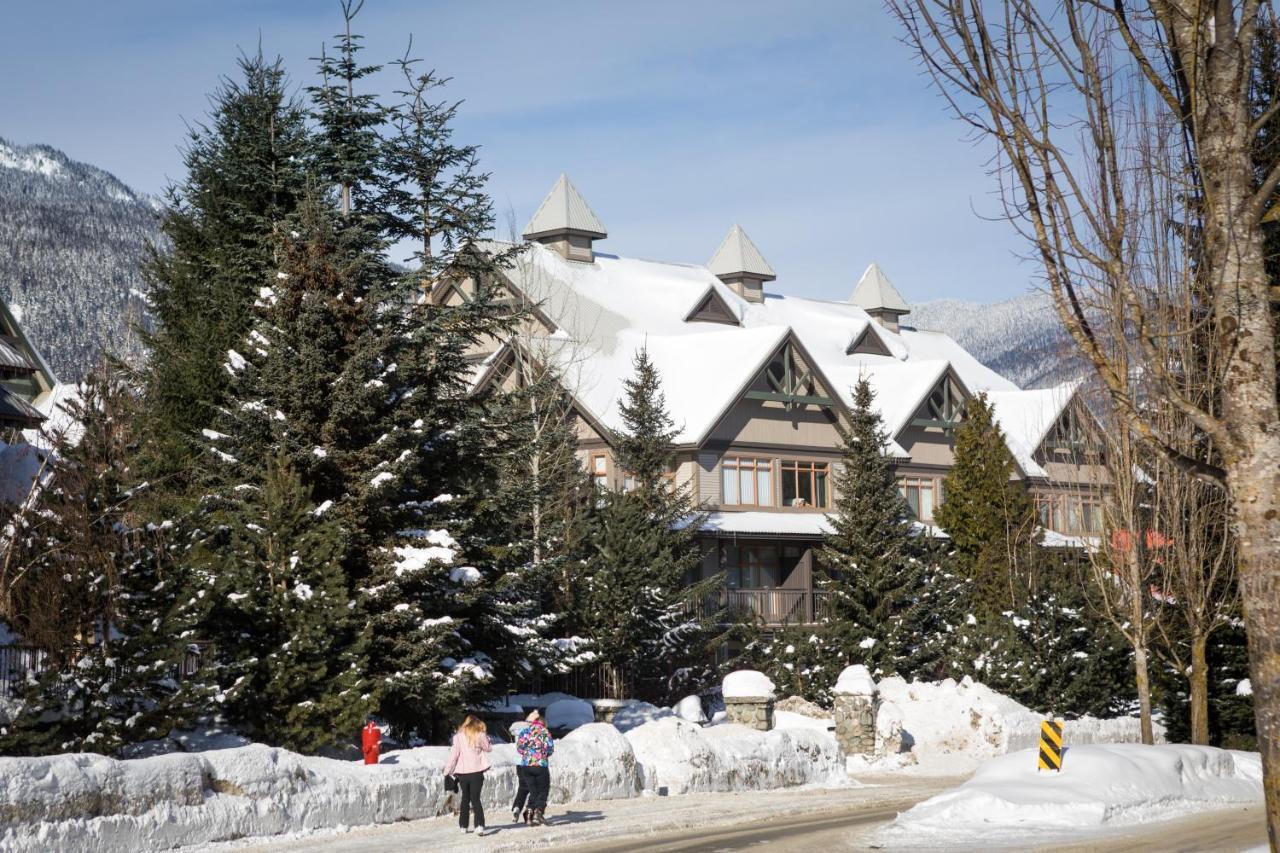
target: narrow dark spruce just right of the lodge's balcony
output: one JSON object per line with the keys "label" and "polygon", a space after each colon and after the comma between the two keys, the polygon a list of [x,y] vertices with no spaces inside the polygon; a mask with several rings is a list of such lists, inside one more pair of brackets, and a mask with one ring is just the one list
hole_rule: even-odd
{"label": "narrow dark spruce just right of the lodge's balcony", "polygon": [[873,674],[910,675],[923,639],[924,564],[887,443],[870,383],[860,379],[840,443],[832,532],[818,552],[831,601],[823,640]]}

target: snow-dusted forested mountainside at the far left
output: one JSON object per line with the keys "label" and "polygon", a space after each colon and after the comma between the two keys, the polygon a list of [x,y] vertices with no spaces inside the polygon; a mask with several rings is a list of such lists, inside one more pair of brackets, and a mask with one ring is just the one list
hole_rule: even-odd
{"label": "snow-dusted forested mountainside at the far left", "polygon": [[159,205],[56,149],[0,138],[0,297],[58,377],[79,379],[102,352],[137,356]]}

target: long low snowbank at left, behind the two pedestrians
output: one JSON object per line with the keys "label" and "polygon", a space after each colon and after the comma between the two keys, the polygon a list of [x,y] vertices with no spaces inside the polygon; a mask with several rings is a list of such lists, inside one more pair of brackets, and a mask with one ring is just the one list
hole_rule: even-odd
{"label": "long low snowbank at left, behind the two pedestrians", "polygon": [[[436,817],[445,747],[390,752],[375,766],[250,745],[115,761],[0,758],[0,849],[136,853],[252,835]],[[484,786],[495,813],[516,792],[516,752],[497,745]],[[608,725],[557,742],[556,803],[639,793],[630,744]]]}

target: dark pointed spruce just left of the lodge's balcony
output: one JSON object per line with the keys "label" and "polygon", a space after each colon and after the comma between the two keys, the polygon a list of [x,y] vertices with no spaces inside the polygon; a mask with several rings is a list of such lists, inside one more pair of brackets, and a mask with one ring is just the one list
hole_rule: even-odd
{"label": "dark pointed spruce just left of the lodge's balcony", "polygon": [[622,492],[602,492],[585,542],[579,619],[596,653],[630,672],[637,690],[662,695],[659,685],[687,670],[705,652],[708,624],[694,603],[718,579],[694,583],[701,552],[700,515],[689,491],[673,485],[676,430],[667,414],[662,379],[640,350],[635,374],[623,383],[625,428],[617,461],[630,479]]}

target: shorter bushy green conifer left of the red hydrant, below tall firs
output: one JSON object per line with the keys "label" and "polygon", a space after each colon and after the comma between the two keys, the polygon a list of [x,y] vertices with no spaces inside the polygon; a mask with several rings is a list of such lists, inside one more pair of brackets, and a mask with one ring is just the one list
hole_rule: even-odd
{"label": "shorter bushy green conifer left of the red hydrant, below tall firs", "polygon": [[282,460],[234,489],[212,521],[212,647],[198,680],[268,743],[314,752],[343,740],[371,703],[365,631],[338,560],[342,529]]}

